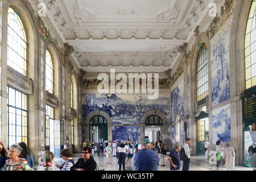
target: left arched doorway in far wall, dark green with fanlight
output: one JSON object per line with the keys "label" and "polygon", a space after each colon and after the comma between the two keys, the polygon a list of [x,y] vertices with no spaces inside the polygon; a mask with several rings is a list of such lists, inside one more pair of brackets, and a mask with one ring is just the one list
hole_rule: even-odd
{"label": "left arched doorway in far wall, dark green with fanlight", "polygon": [[95,115],[89,122],[90,142],[108,140],[108,121],[102,115]]}

